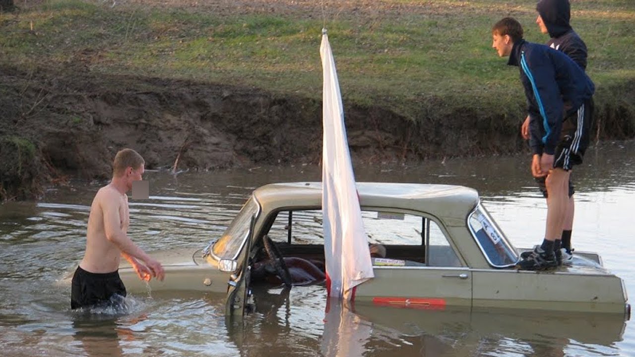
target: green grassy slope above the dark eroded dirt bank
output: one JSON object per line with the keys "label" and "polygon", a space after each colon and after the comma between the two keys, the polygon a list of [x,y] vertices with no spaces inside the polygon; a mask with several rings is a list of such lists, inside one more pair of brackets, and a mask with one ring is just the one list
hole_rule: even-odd
{"label": "green grassy slope above the dark eroded dirt bank", "polygon": [[[363,17],[145,8],[134,1],[44,0],[0,14],[0,63],[194,79],[321,97],[319,44],[326,24],[345,102],[382,105],[406,118],[444,118],[471,109],[518,120],[518,69],[491,49],[491,25],[505,16],[544,43],[530,0],[386,0],[412,11]],[[589,48],[597,102],[635,79],[635,3],[572,1],[572,25]],[[73,71],[75,71],[76,67]],[[632,88],[632,85],[629,86]],[[345,103],[345,106],[347,103]]]}

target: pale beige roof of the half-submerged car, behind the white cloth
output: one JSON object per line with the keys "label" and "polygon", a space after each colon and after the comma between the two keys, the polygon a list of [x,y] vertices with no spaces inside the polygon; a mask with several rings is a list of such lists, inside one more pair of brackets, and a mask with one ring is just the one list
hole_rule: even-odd
{"label": "pale beige roof of the half-submerged car, behind the white cloth", "polygon": [[[359,204],[425,212],[451,226],[464,226],[478,204],[476,190],[459,185],[356,182]],[[265,212],[284,208],[312,208],[322,203],[322,182],[269,184],[254,191]]]}

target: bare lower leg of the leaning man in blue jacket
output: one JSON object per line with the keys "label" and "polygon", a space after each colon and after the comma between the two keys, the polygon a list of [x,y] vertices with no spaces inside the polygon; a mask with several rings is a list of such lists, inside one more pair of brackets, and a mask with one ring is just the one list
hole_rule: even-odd
{"label": "bare lower leg of the leaning man in blue jacket", "polygon": [[570,172],[554,168],[547,176],[547,227],[545,239],[554,241],[562,235],[569,201]]}

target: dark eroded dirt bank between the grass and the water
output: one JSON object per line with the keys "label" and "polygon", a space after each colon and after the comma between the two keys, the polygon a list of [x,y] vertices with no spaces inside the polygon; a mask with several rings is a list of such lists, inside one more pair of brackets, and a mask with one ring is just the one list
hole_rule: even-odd
{"label": "dark eroded dirt bank between the grass and the water", "polygon": [[[321,158],[321,102],[311,98],[15,68],[1,69],[0,94],[0,199],[37,197],[42,184],[69,177],[107,178],[110,161],[123,147],[142,153],[147,168],[171,168],[177,158],[177,169],[198,170]],[[598,112],[601,133],[632,137],[633,120],[623,118],[632,113],[626,111]],[[507,154],[526,147],[518,134],[520,118],[516,123],[469,108],[415,123],[380,107],[345,104],[345,118],[357,163]]]}

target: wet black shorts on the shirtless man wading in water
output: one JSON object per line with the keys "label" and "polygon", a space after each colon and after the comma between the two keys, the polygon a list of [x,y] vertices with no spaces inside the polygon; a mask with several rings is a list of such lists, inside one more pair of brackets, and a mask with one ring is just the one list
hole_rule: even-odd
{"label": "wet black shorts on the shirtless man wading in water", "polygon": [[126,296],[119,271],[90,273],[77,267],[70,288],[70,308],[109,306]]}

